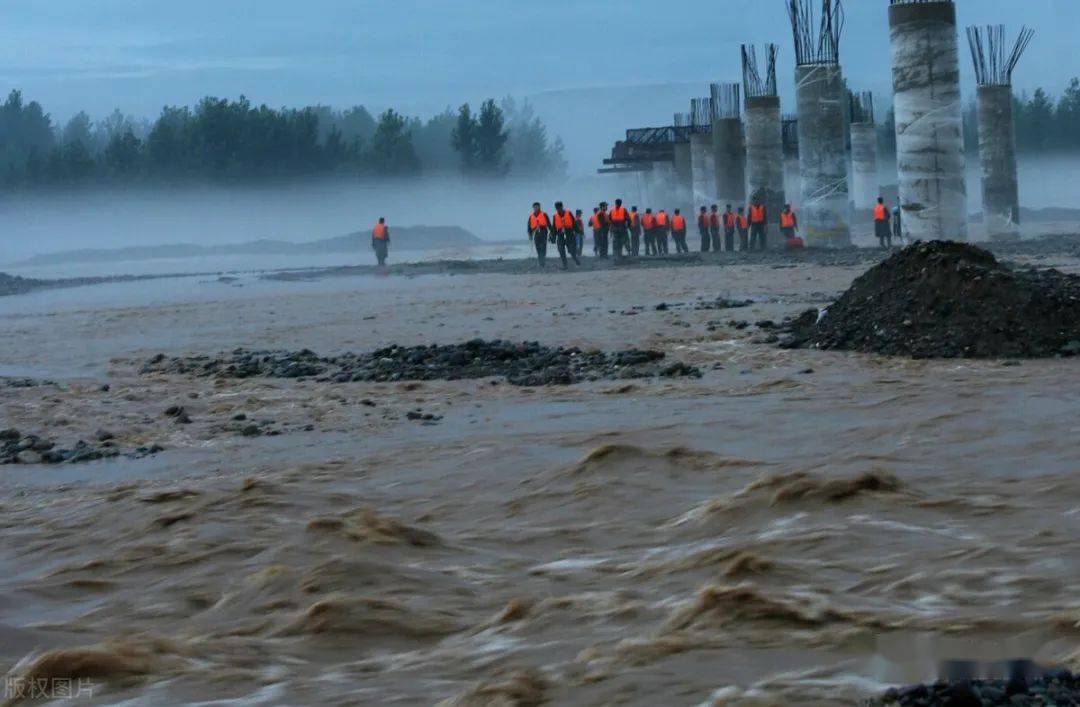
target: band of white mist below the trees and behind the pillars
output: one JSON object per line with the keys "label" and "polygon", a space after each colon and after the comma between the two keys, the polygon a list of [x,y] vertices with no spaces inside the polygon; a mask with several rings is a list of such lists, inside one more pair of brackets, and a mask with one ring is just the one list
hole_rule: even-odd
{"label": "band of white mist below the trees and behind the pillars", "polygon": [[[969,210],[980,205],[977,158],[968,162]],[[891,165],[882,165],[881,182],[894,183]],[[1075,206],[1080,191],[1080,158],[1022,157],[1021,202],[1029,208]],[[566,183],[519,180],[472,182],[443,177],[416,182],[326,181],[265,187],[85,190],[77,192],[13,192],[0,198],[0,268],[23,274],[49,275],[12,268],[35,255],[82,248],[119,248],[178,243],[234,244],[259,239],[314,241],[365,231],[379,217],[391,226],[460,226],[486,241],[526,244],[525,218],[540,201],[556,200],[586,214],[602,200],[624,198],[646,204],[633,177],[592,176]],[[798,199],[791,199],[798,206]],[[516,253],[515,253],[516,254]],[[410,254],[414,255],[414,254]],[[474,257],[484,254],[473,254]],[[369,253],[347,261],[366,261]],[[340,257],[287,258],[275,266],[330,264]],[[174,261],[176,270],[268,267],[241,256],[220,262]],[[158,268],[161,271],[170,268]],[[133,272],[132,263],[99,263],[95,273]],[[146,271],[139,268],[139,272]]]}

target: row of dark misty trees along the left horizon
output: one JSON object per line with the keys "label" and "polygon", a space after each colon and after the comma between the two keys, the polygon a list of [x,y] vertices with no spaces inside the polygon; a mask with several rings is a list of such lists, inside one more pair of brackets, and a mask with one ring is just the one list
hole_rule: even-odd
{"label": "row of dark misty trees along the left horizon", "polygon": [[392,109],[376,118],[363,106],[273,109],[207,97],[166,107],[153,122],[80,112],[63,126],[18,91],[0,105],[0,179],[12,187],[449,172],[562,176],[566,161],[528,101],[512,98],[424,121]]}

